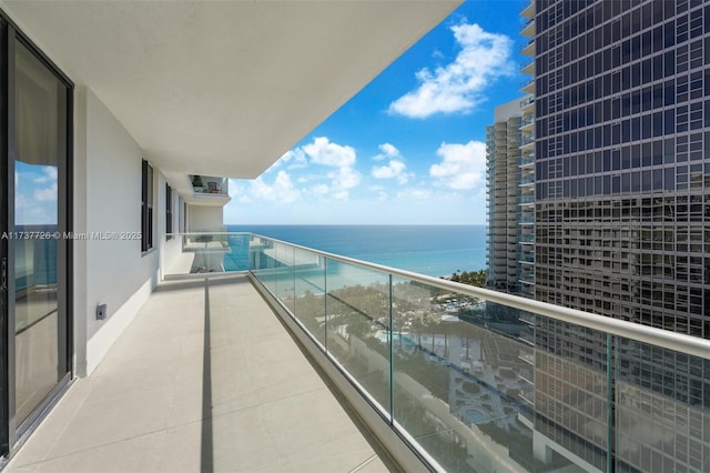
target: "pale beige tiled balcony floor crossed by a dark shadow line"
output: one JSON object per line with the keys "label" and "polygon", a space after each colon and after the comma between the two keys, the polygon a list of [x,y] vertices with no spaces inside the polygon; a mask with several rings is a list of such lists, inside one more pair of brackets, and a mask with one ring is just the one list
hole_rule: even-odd
{"label": "pale beige tiled balcony floor crossed by a dark shadow line", "polygon": [[387,471],[244,276],[161,284],[8,472]]}

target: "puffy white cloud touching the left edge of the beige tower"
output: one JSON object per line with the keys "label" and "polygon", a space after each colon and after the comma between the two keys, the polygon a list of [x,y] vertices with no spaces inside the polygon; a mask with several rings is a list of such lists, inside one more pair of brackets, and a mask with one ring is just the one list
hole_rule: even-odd
{"label": "puffy white cloud touching the left edge of the beige tower", "polygon": [[437,185],[467,190],[484,182],[486,143],[443,143],[436,153],[442,158],[442,162],[429,168],[429,175],[436,179]]}

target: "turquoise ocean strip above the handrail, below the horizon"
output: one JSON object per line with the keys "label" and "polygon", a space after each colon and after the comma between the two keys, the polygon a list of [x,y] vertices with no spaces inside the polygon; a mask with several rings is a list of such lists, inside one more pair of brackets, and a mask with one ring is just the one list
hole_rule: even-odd
{"label": "turquoise ocean strip above the handrail, below the horizon", "polygon": [[485,225],[226,225],[432,276],[486,268]]}

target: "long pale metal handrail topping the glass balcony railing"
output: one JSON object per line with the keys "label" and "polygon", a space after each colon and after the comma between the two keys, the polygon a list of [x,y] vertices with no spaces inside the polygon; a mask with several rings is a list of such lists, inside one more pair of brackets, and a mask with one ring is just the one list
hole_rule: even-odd
{"label": "long pale metal handrail topping the glass balcony railing", "polygon": [[470,295],[474,298],[480,298],[486,301],[496,302],[503,305],[508,305],[521,311],[534,312],[536,314],[545,315],[547,318],[559,320],[562,322],[574,323],[576,325],[585,326],[588,329],[607,332],[612,335],[623,336],[626,339],[636,340],[638,342],[649,343],[668,350],[673,350],[677,352],[710,360],[710,340],[657,329],[653,326],[641,325],[633,322],[627,322],[619,319],[611,319],[599,314],[584,312],[577,309],[562,308],[547,302],[535,301],[518,295],[491,291],[489,289],[476,288],[473,285],[462,284],[458,282],[414,273],[410,271],[398,270],[396,268],[389,268],[383,264],[371,263],[367,261],[356,260],[354,258],[328,253],[326,251],[314,250],[307,246],[288,243],[271,236],[263,236],[255,233],[252,234],[265,240],[271,240],[301,250],[306,250],[317,255],[329,258],[332,260],[363,266],[375,271],[382,271],[413,281],[434,285],[436,288],[459,292],[462,294]]}

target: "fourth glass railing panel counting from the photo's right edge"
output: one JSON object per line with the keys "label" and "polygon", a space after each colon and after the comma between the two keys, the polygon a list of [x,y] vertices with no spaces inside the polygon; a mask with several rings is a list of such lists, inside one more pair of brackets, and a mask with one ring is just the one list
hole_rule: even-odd
{"label": "fourth glass railing panel counting from the photo's right edge", "polygon": [[325,259],[296,248],[294,281],[293,314],[325,346]]}

